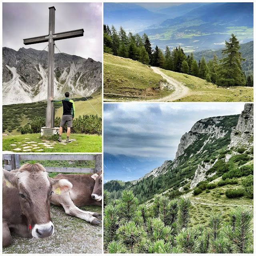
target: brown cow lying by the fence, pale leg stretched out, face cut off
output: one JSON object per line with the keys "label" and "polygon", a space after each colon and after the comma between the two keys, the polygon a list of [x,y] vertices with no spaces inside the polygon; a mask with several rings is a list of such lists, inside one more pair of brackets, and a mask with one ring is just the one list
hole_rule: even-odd
{"label": "brown cow lying by the fence, pale leg stretched out, face cut off", "polygon": [[101,214],[86,212],[76,206],[102,206],[102,172],[96,174],[58,174],[54,179],[67,179],[73,185],[72,189],[63,194],[53,194],[51,203],[62,205],[66,214],[76,216],[91,224],[100,224],[95,217]]}

